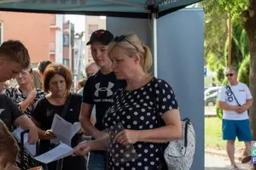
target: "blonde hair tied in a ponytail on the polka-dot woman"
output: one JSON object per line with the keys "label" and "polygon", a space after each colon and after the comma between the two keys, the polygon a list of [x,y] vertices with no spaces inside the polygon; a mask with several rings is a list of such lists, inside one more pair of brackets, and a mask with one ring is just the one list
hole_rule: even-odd
{"label": "blonde hair tied in a ponytail on the polka-dot woman", "polygon": [[139,54],[141,59],[140,59],[140,64],[143,67],[144,72],[148,72],[152,65],[152,54],[150,49],[148,48],[147,45],[145,45],[139,37],[137,37],[136,34],[131,33],[131,34],[126,34],[124,35],[125,39],[121,42],[112,42],[110,43],[108,47],[108,54],[112,51],[114,47],[120,47],[120,48],[125,48],[127,51],[127,54],[130,57],[133,57],[135,54]]}

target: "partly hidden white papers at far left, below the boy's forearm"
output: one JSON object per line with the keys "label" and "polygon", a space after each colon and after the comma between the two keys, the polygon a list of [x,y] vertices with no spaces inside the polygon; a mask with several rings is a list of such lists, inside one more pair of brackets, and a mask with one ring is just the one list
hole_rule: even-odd
{"label": "partly hidden white papers at far left, below the boy's forearm", "polygon": [[[22,133],[24,130],[21,129],[20,127],[16,128],[15,131],[13,132],[13,134],[15,135],[16,139],[18,139],[19,141],[21,141],[21,138],[20,138],[20,133]],[[26,148],[26,150],[29,151],[29,153],[32,155],[32,156],[35,156],[37,154],[37,145],[36,144],[28,144],[27,143],[27,136],[28,136],[28,133],[25,133],[24,134],[24,140],[23,140],[23,144],[24,144],[24,147]]]}

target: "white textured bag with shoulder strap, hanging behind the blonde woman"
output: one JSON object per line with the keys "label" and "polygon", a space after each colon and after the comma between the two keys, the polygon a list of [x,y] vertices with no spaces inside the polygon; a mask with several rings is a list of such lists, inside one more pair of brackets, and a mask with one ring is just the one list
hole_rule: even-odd
{"label": "white textured bag with shoulder strap, hanging behind the blonde woman", "polygon": [[[154,108],[159,127],[165,126],[165,122],[157,113],[156,94],[154,94]],[[194,160],[195,129],[189,118],[184,118],[181,122],[183,132],[182,139],[170,141],[164,144],[160,149],[161,153],[164,155],[168,170],[189,170]],[[165,165],[160,165],[159,169],[163,169],[163,167],[165,167]]]}

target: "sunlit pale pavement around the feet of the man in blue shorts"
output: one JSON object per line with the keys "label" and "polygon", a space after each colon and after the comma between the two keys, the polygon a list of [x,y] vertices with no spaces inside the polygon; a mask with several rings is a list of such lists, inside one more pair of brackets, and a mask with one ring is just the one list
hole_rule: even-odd
{"label": "sunlit pale pavement around the feet of the man in blue shorts", "polygon": [[[236,163],[240,170],[250,170],[247,164]],[[205,155],[205,170],[230,170],[230,161],[224,156]]]}

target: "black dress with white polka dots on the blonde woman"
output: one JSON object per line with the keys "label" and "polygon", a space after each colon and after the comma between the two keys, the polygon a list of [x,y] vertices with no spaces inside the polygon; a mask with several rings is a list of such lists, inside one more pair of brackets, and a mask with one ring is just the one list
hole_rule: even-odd
{"label": "black dress with white polka dots on the blonde woman", "polygon": [[[106,128],[121,123],[125,129],[145,130],[159,127],[159,114],[172,109],[178,109],[177,99],[170,85],[160,79],[153,78],[143,88],[132,91],[119,89],[113,95],[113,105],[109,108],[103,123]],[[157,111],[155,111],[157,110]],[[133,144],[137,153],[136,159],[124,163],[116,160],[125,159],[127,156],[118,154],[108,156],[108,169],[113,170],[156,170],[163,161],[160,151],[162,144],[141,143]],[[119,144],[115,144],[119,149]],[[109,153],[109,152],[108,152]]]}

